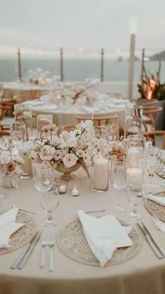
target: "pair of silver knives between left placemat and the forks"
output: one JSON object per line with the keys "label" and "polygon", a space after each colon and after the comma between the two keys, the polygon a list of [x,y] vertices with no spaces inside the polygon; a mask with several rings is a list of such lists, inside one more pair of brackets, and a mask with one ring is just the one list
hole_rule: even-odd
{"label": "pair of silver knives between left placemat and the forks", "polygon": [[29,256],[31,255],[32,251],[34,250],[34,246],[38,242],[38,239],[40,238],[41,232],[38,231],[33,236],[31,241],[27,244],[27,246],[22,250],[20,255],[17,257],[17,259],[13,262],[10,269],[22,269],[24,265],[26,264]]}

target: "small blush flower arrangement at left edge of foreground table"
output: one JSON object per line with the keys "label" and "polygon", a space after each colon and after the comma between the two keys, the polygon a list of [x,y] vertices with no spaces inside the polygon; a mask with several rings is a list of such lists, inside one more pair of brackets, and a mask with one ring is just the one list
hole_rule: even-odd
{"label": "small blush flower arrangement at left edge of foreground table", "polygon": [[6,175],[6,187],[17,188],[16,175],[22,173],[21,164],[23,163],[24,160],[16,150],[9,148],[0,150],[0,171],[2,175]]}

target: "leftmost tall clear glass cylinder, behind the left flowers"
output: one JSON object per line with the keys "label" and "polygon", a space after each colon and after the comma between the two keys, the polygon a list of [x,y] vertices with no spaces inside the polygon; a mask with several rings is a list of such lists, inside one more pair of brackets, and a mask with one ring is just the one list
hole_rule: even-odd
{"label": "leftmost tall clear glass cylinder, behind the left flowers", "polygon": [[24,123],[26,126],[27,140],[33,135],[31,106],[15,105],[15,123]]}

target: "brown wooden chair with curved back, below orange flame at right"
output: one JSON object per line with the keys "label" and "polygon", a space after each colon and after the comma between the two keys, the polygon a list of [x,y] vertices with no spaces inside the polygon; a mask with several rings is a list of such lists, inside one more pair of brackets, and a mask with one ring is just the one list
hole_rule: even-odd
{"label": "brown wooden chair with curved back, below orange flame at right", "polygon": [[[144,108],[143,114],[145,114],[145,116],[148,116],[150,118],[151,130],[155,130],[155,124],[162,110],[163,110],[162,107],[154,106],[154,105]],[[145,127],[145,131],[149,131],[147,123],[145,123],[145,121],[143,121],[143,126]]]}

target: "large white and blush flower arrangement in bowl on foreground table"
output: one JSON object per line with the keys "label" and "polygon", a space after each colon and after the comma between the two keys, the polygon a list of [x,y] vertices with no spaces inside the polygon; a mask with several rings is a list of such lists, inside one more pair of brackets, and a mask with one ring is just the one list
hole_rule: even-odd
{"label": "large white and blush flower arrangement in bowl on foreground table", "polygon": [[70,177],[71,171],[80,166],[89,176],[87,166],[90,162],[89,141],[91,139],[93,123],[85,121],[79,123],[74,131],[63,131],[57,135],[56,126],[44,126],[42,131],[45,138],[31,142],[29,157],[38,162],[50,164],[57,171],[62,171]]}

